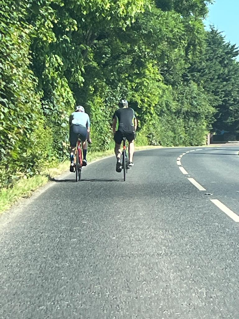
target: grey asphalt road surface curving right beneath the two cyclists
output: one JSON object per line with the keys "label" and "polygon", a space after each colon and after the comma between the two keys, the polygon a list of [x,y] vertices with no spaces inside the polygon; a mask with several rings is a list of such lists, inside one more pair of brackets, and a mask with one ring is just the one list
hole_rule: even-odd
{"label": "grey asphalt road surface curving right beneath the two cyclists", "polygon": [[137,152],[126,182],[101,160],[4,214],[0,318],[238,319],[239,146],[196,149]]}

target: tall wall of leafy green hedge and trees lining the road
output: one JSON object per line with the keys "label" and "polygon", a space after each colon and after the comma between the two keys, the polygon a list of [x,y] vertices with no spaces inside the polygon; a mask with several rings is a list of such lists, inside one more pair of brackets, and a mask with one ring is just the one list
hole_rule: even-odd
{"label": "tall wall of leafy green hedge and trees lining the road", "polygon": [[212,125],[238,132],[238,53],[204,30],[208,3],[0,0],[0,186],[68,156],[75,104],[90,114],[92,150],[109,147],[120,98],[140,143],[202,144]]}

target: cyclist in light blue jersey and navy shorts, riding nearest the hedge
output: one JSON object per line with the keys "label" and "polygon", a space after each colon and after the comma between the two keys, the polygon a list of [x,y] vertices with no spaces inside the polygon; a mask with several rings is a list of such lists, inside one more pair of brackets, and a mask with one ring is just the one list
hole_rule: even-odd
{"label": "cyclist in light blue jersey and navy shorts, riding nearest the hedge", "polygon": [[76,143],[78,135],[82,141],[83,148],[83,165],[87,165],[86,153],[87,153],[87,141],[91,143],[90,139],[90,118],[83,106],[78,105],[75,112],[71,113],[69,118],[69,141],[70,141],[70,172],[75,171],[74,154],[76,149]]}

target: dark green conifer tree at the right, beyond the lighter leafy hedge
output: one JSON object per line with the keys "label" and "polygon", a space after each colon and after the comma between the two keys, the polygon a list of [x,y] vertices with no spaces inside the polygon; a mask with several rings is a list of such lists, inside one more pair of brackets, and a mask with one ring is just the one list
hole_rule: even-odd
{"label": "dark green conifer tree at the right, beyond the lighter leafy hedge", "polygon": [[239,132],[239,63],[235,45],[221,32],[207,32],[205,53],[189,68],[191,78],[204,88],[210,104],[216,109],[214,130]]}

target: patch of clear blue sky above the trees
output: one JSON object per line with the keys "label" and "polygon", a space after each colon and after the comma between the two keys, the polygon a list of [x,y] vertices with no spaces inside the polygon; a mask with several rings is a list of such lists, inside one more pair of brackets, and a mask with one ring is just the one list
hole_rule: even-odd
{"label": "patch of clear blue sky above the trees", "polygon": [[209,6],[206,28],[213,24],[226,40],[239,47],[239,0],[215,0]]}

